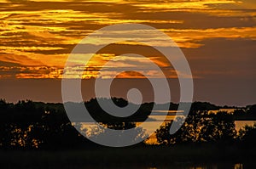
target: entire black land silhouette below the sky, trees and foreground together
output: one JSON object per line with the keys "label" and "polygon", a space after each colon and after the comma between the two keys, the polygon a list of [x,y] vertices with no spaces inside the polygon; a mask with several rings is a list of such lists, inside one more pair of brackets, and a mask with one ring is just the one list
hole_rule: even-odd
{"label": "entire black land silhouette below the sky, trees and foreground together", "polygon": [[[104,100],[108,102],[110,99]],[[119,107],[128,104],[125,99],[112,100]],[[142,104],[134,115],[127,118],[109,115],[96,99],[90,99],[84,105],[102,125],[128,129],[148,118],[154,103]],[[177,110],[177,106],[170,103],[169,110]],[[209,113],[210,110],[223,109],[235,111]],[[108,148],[84,138],[69,121],[63,104],[32,100],[13,104],[1,99],[0,114],[0,165],[6,168],[33,168],[38,165],[41,168],[93,168],[128,164],[143,168],[166,167],[170,161],[174,168],[179,163],[205,164],[212,161],[252,166],[256,156],[256,124],[239,131],[235,127],[237,120],[256,120],[256,104],[230,107],[195,102],[183,126],[175,134],[169,133],[173,121],[167,121],[155,132],[157,144],[141,143],[125,148]],[[176,121],[182,120],[178,117]],[[88,131],[84,129],[84,132]],[[98,137],[103,132],[92,130],[90,137]],[[138,134],[142,133],[143,130],[138,130]]]}

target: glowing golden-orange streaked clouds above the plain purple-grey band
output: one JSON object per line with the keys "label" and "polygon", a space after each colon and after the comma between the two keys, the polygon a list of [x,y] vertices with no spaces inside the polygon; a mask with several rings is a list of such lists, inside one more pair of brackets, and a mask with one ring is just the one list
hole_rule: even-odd
{"label": "glowing golden-orange streaked clouds above the plain purple-grey band", "polygon": [[[198,63],[192,61],[193,67],[198,68],[194,70],[196,77],[224,76],[227,72],[236,72],[236,68],[231,66],[230,71],[221,73],[219,69],[223,68],[220,65],[201,69],[201,63],[209,55],[217,62],[221,58],[216,56],[230,59],[232,54],[252,60],[254,47],[247,48],[247,43],[254,43],[256,38],[255,16],[256,5],[250,0],[0,1],[0,78],[61,78],[61,69],[73,47],[90,32],[116,23],[152,25],[172,37],[189,60],[202,59]],[[170,45],[162,43],[160,38],[152,35],[150,41],[161,48]],[[215,47],[209,48],[209,42],[217,39],[221,44],[234,42],[240,47],[236,48],[236,54],[224,55],[226,49],[218,48],[212,55]],[[81,48],[93,46],[82,45]],[[248,49],[247,53],[244,48]],[[91,75],[88,76],[96,76],[99,65],[125,52],[147,56],[174,77],[170,64],[161,54],[134,42],[120,42],[102,48],[90,61]],[[230,65],[235,62],[231,60]],[[116,62],[124,68],[141,64],[128,59]],[[241,65],[241,69],[247,70],[247,67]],[[114,66],[104,70],[106,74],[110,71],[115,72]],[[154,70],[148,70],[148,74],[155,75]],[[251,76],[246,71],[238,74]]]}

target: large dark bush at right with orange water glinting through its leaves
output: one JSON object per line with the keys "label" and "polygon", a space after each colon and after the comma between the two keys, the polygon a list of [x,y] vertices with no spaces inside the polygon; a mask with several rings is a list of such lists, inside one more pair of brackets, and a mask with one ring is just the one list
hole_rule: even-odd
{"label": "large dark bush at right with orange water glinting through its leaves", "polygon": [[[183,121],[182,118],[178,117],[176,121]],[[173,135],[169,134],[171,125],[172,122],[166,123],[156,131],[160,144],[224,144],[232,142],[236,137],[235,122],[225,112],[209,115],[207,111],[192,110],[183,126]]]}

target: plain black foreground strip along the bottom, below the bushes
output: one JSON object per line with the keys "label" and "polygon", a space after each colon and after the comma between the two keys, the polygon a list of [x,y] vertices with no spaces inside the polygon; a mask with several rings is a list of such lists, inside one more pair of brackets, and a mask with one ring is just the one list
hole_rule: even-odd
{"label": "plain black foreground strip along the bottom, below the bushes", "polygon": [[1,168],[255,168],[256,149],[143,146],[0,152]]}

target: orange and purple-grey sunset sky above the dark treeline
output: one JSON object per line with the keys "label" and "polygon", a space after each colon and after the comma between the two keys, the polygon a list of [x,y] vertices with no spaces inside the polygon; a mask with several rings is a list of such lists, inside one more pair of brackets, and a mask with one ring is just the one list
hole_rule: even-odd
{"label": "orange and purple-grey sunset sky above the dark treeline", "polygon": [[[8,101],[61,102],[61,74],[75,45],[104,26],[139,23],[165,32],[182,49],[195,78],[194,100],[256,103],[254,0],[0,0],[0,18],[0,98]],[[156,45],[164,45],[155,39]],[[108,77],[115,65],[102,75],[97,70],[124,50],[147,56],[162,69],[168,68],[168,78],[177,78],[159,53],[129,42],[103,48],[83,77]],[[136,57],[119,58],[115,63],[147,67],[147,60]],[[154,70],[148,70],[148,76],[159,77]],[[141,76],[126,73],[120,77]]]}

